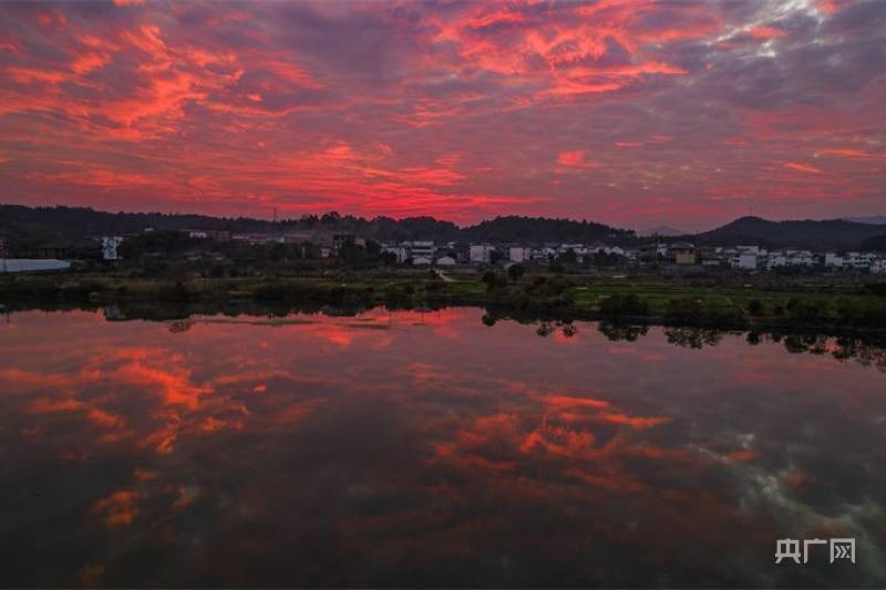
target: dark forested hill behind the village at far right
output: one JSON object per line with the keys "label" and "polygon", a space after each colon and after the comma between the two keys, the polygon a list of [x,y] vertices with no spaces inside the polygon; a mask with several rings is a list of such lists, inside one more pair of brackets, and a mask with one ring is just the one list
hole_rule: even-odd
{"label": "dark forested hill behind the village at far right", "polygon": [[795,246],[814,250],[839,250],[859,248],[865,240],[876,236],[886,236],[886,225],[842,219],[770,221],[760,217],[741,217],[711,231],[688,238],[702,245],[752,244],[771,248]]}

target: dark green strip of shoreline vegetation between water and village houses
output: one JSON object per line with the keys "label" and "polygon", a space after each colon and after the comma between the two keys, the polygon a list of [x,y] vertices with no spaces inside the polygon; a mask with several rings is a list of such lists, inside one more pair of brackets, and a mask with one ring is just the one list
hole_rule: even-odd
{"label": "dark green strip of shoreline vegetation between water and village houses", "polygon": [[[513,267],[512,267],[513,268]],[[329,276],[327,276],[329,275]],[[260,309],[482,307],[496,318],[601,321],[723,330],[886,337],[886,283],[820,281],[720,282],[631,276],[523,271],[409,273],[347,271],[320,276],[133,278],[110,273],[0,276],[8,311],[116,306],[157,313]],[[176,311],[177,310],[177,311]],[[137,313],[136,313],[137,314]],[[148,315],[150,317],[150,315]]]}

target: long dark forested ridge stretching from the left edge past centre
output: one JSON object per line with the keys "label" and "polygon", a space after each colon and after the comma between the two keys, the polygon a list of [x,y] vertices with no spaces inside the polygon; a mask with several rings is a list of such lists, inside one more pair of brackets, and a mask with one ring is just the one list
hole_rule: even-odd
{"label": "long dark forested ridge stretching from the left edge past centre", "polygon": [[590,221],[530,217],[497,217],[472,227],[460,228],[433,217],[365,219],[336,213],[309,215],[298,219],[267,221],[246,217],[224,218],[204,215],[158,213],[106,213],[85,207],[25,207],[0,205],[0,237],[28,244],[80,241],[92,236],[135,234],[146,228],[219,229],[233,232],[286,232],[305,229],[353,231],[379,241],[427,239],[435,241],[494,242],[625,242],[633,231],[615,229]]}

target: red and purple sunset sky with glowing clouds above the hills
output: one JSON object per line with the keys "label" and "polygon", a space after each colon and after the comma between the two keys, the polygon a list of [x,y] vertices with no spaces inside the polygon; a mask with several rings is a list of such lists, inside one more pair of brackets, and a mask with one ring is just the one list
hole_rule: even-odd
{"label": "red and purple sunset sky with glowing clouds above the hills", "polygon": [[886,213],[886,2],[3,2],[0,201]]}

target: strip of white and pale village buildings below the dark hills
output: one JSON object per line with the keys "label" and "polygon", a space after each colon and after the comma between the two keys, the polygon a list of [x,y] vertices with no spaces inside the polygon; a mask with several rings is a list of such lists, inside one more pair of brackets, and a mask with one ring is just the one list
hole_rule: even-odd
{"label": "strip of white and pale village buildings below the dark hills", "polygon": [[[0,272],[42,272],[69,270],[83,258],[105,262],[126,259],[121,253],[127,241],[142,236],[101,236],[91,245],[45,245],[32,249],[28,257],[12,258],[7,241],[0,238]],[[813,251],[802,248],[767,249],[759,245],[696,246],[688,241],[649,241],[633,246],[607,244],[466,244],[411,240],[374,242],[350,232],[295,231],[286,234],[233,234],[209,229],[179,230],[190,247],[182,252],[189,260],[212,258],[224,261],[224,245],[230,247],[287,247],[302,259],[316,259],[327,265],[347,263],[347,251],[369,252],[379,263],[408,267],[639,267],[671,272],[717,269],[734,272],[800,271],[886,275],[886,255],[874,251]],[[140,256],[156,256],[142,252]]]}

